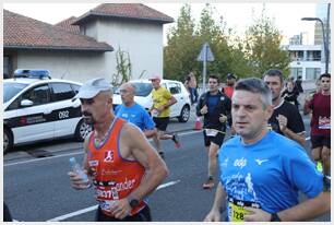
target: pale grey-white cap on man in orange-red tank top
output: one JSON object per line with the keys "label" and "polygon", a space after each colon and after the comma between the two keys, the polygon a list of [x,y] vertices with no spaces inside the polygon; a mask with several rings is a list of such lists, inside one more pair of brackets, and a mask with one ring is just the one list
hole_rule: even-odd
{"label": "pale grey-white cap on man in orange-red tank top", "polygon": [[80,87],[79,93],[73,98],[93,98],[103,91],[111,91],[111,87],[106,79],[92,79]]}

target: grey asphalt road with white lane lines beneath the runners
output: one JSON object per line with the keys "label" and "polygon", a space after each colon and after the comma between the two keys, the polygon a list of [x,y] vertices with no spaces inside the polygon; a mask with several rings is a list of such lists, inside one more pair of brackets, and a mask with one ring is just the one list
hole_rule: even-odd
{"label": "grey asphalt road with white lane lines beneath the runners", "polygon": [[[308,119],[305,122],[309,125]],[[172,121],[169,126],[171,131],[186,131],[180,132],[180,150],[171,141],[163,142],[170,174],[150,197],[153,221],[201,222],[211,209],[215,190],[202,189],[207,156],[202,132],[192,131],[193,126],[193,118],[187,123]],[[21,146],[4,156],[4,201],[15,220],[94,221],[93,189],[76,191],[70,187],[67,173],[71,156],[82,161],[82,144],[69,139]],[[331,221],[330,213],[315,221]]]}

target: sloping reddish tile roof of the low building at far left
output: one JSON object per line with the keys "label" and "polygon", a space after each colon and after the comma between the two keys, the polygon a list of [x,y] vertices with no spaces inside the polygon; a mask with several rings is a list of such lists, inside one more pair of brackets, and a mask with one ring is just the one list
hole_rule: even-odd
{"label": "sloping reddish tile roof of the low building at far left", "polygon": [[28,49],[111,51],[106,43],[3,10],[3,47]]}

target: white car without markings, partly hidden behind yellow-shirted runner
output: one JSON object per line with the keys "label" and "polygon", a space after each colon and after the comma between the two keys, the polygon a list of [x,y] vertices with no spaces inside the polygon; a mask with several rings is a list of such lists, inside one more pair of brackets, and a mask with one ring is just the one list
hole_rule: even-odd
{"label": "white car without markings, partly hidden behind yellow-shirted runner", "polygon": [[[133,80],[130,81],[135,86],[134,100],[143,106],[146,110],[150,110],[152,102],[152,82],[148,80]],[[189,93],[184,85],[179,81],[162,80],[160,85],[169,90],[172,96],[177,99],[177,103],[170,107],[170,118],[178,118],[180,122],[187,122],[190,117],[190,98]],[[114,93],[114,108],[117,105],[122,104],[119,95],[119,90],[115,90]]]}

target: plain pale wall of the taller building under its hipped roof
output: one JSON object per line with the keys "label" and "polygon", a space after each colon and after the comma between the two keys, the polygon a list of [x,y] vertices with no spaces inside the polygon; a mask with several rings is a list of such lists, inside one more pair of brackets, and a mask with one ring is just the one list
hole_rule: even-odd
{"label": "plain pale wall of the taller building under its hipped roof", "polygon": [[[97,42],[106,42],[115,50],[105,54],[107,74],[116,73],[116,52],[120,47],[130,54],[132,79],[153,74],[163,75],[163,25],[136,21],[99,20],[97,23]],[[91,27],[93,29],[93,27]],[[90,34],[86,31],[86,34]],[[92,32],[94,33],[94,32]]]}

